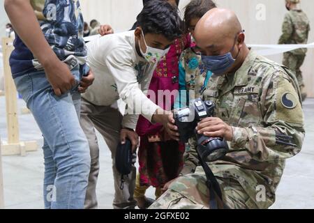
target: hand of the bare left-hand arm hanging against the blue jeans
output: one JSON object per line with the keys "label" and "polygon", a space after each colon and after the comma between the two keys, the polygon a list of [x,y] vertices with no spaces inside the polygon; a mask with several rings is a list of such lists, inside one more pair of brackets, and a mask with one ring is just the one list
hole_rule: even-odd
{"label": "hand of the bare left-hand arm hanging against the blue jeans", "polygon": [[66,63],[59,61],[57,57],[54,61],[43,65],[43,67],[46,77],[57,96],[61,96],[63,93],[72,89],[75,84],[78,84],[75,83],[75,78]]}

